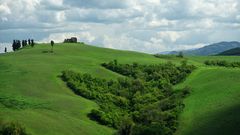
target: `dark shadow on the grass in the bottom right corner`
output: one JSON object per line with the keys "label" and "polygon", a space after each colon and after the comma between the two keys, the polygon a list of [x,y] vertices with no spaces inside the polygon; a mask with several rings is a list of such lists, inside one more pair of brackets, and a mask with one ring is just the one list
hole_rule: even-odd
{"label": "dark shadow on the grass in the bottom right corner", "polygon": [[240,135],[240,105],[215,113],[208,122],[185,135]]}

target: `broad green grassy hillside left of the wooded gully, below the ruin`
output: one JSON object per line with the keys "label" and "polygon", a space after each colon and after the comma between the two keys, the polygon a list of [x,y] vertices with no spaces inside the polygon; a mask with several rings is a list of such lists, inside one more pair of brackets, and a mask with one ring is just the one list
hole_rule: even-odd
{"label": "broad green grassy hillside left of the wooded gully, below the ruin", "polygon": [[0,120],[19,121],[33,135],[103,135],[113,129],[89,120],[98,106],[75,95],[58,77],[71,69],[102,78],[120,75],[101,67],[103,62],[159,63],[151,55],[97,48],[82,44],[38,45],[0,55]]}

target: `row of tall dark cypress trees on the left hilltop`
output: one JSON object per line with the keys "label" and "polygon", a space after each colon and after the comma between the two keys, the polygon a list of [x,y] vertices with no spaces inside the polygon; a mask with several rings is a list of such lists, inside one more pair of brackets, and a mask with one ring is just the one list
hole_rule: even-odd
{"label": "row of tall dark cypress trees on the left hilltop", "polygon": [[13,51],[16,51],[16,50],[19,50],[21,47],[25,47],[27,45],[34,47],[35,45],[34,40],[28,39],[28,40],[22,40],[22,42],[20,40],[13,40],[12,48],[13,48]]}

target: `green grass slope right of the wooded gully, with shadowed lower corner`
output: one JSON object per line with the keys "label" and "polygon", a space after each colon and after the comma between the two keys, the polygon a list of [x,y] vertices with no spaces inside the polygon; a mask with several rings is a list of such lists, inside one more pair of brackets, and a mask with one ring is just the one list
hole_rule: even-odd
{"label": "green grass slope right of the wooded gully, with shadowed lower corner", "polygon": [[240,69],[200,68],[186,82],[193,92],[185,99],[176,135],[238,135]]}

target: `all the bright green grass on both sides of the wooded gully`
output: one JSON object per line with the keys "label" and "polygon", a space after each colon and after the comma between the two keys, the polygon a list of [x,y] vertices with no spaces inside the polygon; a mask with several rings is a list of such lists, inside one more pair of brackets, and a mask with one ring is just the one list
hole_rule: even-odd
{"label": "all the bright green grass on both sides of the wooded gully", "polygon": [[[18,121],[33,135],[109,135],[114,130],[87,117],[97,104],[75,95],[59,78],[70,69],[115,79],[120,75],[100,66],[119,63],[157,64],[181,59],[159,59],[152,55],[98,48],[83,44],[37,45],[0,55],[0,120]],[[184,101],[177,135],[236,134],[240,127],[240,69],[207,67],[209,59],[240,61],[240,57],[189,57],[198,69],[182,84],[190,86]]]}

